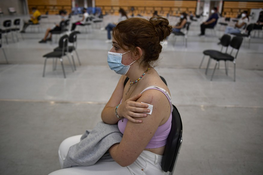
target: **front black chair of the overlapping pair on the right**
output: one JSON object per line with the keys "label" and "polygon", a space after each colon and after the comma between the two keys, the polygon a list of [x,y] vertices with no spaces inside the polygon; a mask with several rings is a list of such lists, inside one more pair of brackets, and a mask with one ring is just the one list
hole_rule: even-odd
{"label": "front black chair of the overlapping pair on the right", "polygon": [[[213,79],[213,76],[214,76],[214,72],[215,72],[215,69],[216,69],[216,66],[217,64],[219,63],[219,61],[224,61],[225,62],[225,69],[226,69],[226,75],[227,75],[227,61],[232,61],[234,63],[234,81],[236,81],[236,57],[237,57],[237,54],[238,54],[238,51],[239,51],[239,48],[242,44],[242,41],[243,41],[243,38],[242,37],[239,37],[239,36],[235,36],[232,38],[231,42],[230,42],[230,46],[232,47],[232,50],[230,52],[230,54],[227,54],[227,53],[214,53],[214,54],[210,54],[210,58],[208,60],[208,63],[207,63],[207,67],[206,67],[206,71],[205,71],[205,75],[207,74],[207,70],[208,70],[208,66],[210,64],[210,60],[211,59],[214,59],[216,60],[216,63],[215,63],[215,66],[214,66],[214,71],[212,73],[212,76],[211,76],[211,81]],[[233,49],[236,49],[236,55],[235,57],[233,57],[231,54],[233,52]]]}

